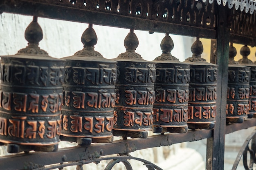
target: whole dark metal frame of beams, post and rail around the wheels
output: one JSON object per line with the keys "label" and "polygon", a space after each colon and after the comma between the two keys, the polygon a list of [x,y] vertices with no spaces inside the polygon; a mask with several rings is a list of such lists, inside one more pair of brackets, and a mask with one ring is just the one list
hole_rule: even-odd
{"label": "whole dark metal frame of beams, post and rail around the wheels", "polygon": [[[218,5],[216,1],[213,1],[213,4],[209,4],[208,2],[202,2],[202,0],[194,1],[193,4],[167,4],[164,2],[168,1],[161,1],[163,3],[159,3],[160,1],[158,0],[138,0],[130,1],[130,6],[129,4],[127,6],[125,1],[121,0],[98,0],[97,2],[99,4],[96,5],[99,5],[99,9],[94,4],[94,0],[86,1],[87,4],[85,7],[83,1],[79,0],[77,2],[73,0],[71,2],[69,0],[2,0],[0,2],[0,11],[214,39],[212,40],[211,46],[212,53],[213,51],[216,51],[216,53],[211,55],[211,62],[218,64],[217,95],[221,99],[217,100],[217,113],[219,114],[216,116],[215,128],[213,130],[189,130],[187,134],[153,135],[147,139],[128,139],[114,141],[110,144],[92,144],[84,148],[77,146],[60,149],[57,152],[33,152],[29,154],[10,155],[0,158],[1,169],[23,169],[23,162],[27,160],[32,162],[27,163],[27,169],[38,167],[36,165],[45,166],[70,161],[83,161],[82,164],[84,164],[99,161],[98,158],[101,156],[112,154],[127,155],[135,150],[168,146],[184,141],[196,141],[207,138],[206,169],[223,170],[225,134],[256,126],[255,119],[248,119],[242,124],[226,125],[225,118],[229,41],[251,46],[256,45],[255,29],[254,32],[249,34],[249,31],[252,31],[252,28],[255,26],[255,13],[250,15],[237,12],[234,7],[233,9],[228,9],[227,6]],[[72,2],[75,4],[72,4]],[[118,2],[124,5],[120,10],[128,9],[128,11],[117,12],[117,10],[108,10],[109,8],[115,9],[115,5]],[[201,4],[202,8],[198,8],[197,4]],[[144,7],[148,7],[146,11]],[[174,9],[174,12],[171,13],[170,9]],[[183,9],[183,13],[181,9]],[[102,18],[103,14],[105,18],[108,18],[107,20]],[[160,16],[163,15],[163,17],[159,17],[158,14]],[[169,14],[170,16],[168,16]],[[177,14],[180,16],[178,17],[179,19],[175,17]],[[242,19],[236,20],[236,16]],[[244,21],[243,18],[245,17],[249,19]],[[240,25],[238,28],[239,23],[242,23],[242,21],[243,25]],[[81,165],[81,162],[79,165]]]}

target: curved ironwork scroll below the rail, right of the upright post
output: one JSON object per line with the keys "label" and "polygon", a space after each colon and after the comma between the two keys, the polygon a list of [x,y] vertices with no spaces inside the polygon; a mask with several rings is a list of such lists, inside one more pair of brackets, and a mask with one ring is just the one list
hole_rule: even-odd
{"label": "curved ironwork scroll below the rail, right of the upright post", "polygon": [[[249,160],[247,158],[247,154],[249,154]],[[249,135],[243,146],[241,147],[236,160],[233,164],[232,170],[236,170],[238,167],[238,163],[243,155],[243,165],[245,170],[253,170],[254,163],[256,163],[256,130],[254,130],[251,135]],[[248,164],[249,163],[249,164]]]}

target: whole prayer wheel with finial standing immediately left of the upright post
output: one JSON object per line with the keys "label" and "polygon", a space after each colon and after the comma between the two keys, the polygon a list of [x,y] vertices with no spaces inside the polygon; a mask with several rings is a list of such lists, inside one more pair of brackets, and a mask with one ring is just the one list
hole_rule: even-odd
{"label": "whole prayer wheel with finial standing immediately left of the upright post", "polygon": [[185,60],[190,65],[189,106],[187,124],[191,129],[213,129],[216,117],[217,65],[201,58],[202,42],[192,44],[192,57]]}

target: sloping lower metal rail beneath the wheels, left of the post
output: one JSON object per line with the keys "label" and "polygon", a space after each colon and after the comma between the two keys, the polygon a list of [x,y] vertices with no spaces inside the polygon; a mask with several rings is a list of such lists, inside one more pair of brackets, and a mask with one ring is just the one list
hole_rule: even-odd
{"label": "sloping lower metal rail beneath the wheels, left of the post", "polygon": [[[109,144],[92,144],[88,147],[61,148],[57,152],[31,152],[29,154],[17,154],[0,157],[1,170],[17,170],[24,165],[50,165],[70,161],[93,162],[100,156],[112,154],[128,154],[135,150],[169,146],[185,141],[197,141],[212,136],[212,130],[191,130],[188,133],[153,135],[146,139],[127,139],[113,141]],[[15,162],[15,163],[13,163]]]}

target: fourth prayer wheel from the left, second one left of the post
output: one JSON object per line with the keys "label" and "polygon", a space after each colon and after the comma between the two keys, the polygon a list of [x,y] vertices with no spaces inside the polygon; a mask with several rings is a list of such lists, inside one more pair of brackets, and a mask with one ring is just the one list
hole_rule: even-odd
{"label": "fourth prayer wheel from the left, second one left of the post", "polygon": [[161,44],[162,55],[156,57],[153,132],[188,131],[189,64],[171,55],[173,40],[166,33]]}

